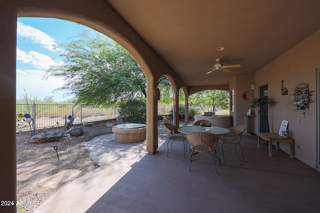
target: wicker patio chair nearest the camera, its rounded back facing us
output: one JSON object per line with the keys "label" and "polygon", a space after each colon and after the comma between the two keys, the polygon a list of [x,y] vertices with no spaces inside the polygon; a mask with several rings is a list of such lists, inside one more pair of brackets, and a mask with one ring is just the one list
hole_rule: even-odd
{"label": "wicker patio chair nearest the camera, its rounded back facing us", "polygon": [[219,160],[218,156],[215,155],[215,148],[214,145],[218,142],[219,137],[214,135],[210,132],[192,132],[188,133],[185,136],[189,143],[190,143],[190,167],[189,171],[191,171],[191,163],[192,163],[192,156],[200,153],[209,153],[209,155],[213,156],[213,165],[215,169],[215,174],[217,175],[216,167],[215,167],[215,158]]}

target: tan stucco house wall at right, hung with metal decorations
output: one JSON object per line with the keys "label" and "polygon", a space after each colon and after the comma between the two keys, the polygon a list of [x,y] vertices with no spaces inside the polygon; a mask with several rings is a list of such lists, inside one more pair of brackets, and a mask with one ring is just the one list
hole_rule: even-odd
{"label": "tan stucco house wall at right, hung with metal decorations", "polygon": [[[280,57],[254,73],[256,89],[254,95],[258,96],[258,88],[268,84],[268,97],[276,101],[269,105],[270,132],[278,132],[281,121],[289,122],[289,136],[294,139],[295,157],[312,168],[316,167],[316,102],[309,104],[309,110],[290,111],[287,109],[290,94],[293,88],[300,83],[308,83],[311,99],[317,97],[316,68],[320,67],[320,30],[298,43]],[[281,79],[288,95],[281,95]],[[293,107],[289,104],[289,108]],[[255,134],[258,134],[258,117],[255,117]],[[302,149],[297,149],[301,146]],[[280,148],[289,153],[289,145],[281,143]]]}

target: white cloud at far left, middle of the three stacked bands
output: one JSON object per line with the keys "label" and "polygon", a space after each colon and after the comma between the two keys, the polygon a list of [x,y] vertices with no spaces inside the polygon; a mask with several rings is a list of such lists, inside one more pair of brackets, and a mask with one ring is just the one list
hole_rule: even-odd
{"label": "white cloud at far left, middle of the three stacked bands", "polygon": [[21,61],[24,64],[29,64],[37,69],[47,69],[50,65],[56,65],[51,57],[38,53],[36,51],[24,52],[19,48],[16,48],[16,60]]}

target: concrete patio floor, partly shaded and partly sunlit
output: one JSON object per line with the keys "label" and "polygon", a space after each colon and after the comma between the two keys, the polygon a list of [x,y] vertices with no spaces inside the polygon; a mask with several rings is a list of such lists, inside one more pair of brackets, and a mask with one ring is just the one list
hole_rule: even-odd
{"label": "concrete patio floor, partly shaded and partly sunlit", "polygon": [[[257,138],[242,137],[244,160],[224,146],[215,175],[212,158],[173,142],[158,126],[159,148],[148,155],[145,142],[118,144],[99,136],[85,147],[99,168],[71,182],[36,213],[316,213],[320,210],[320,173],[281,150],[257,148]],[[251,139],[251,140],[250,140]],[[221,151],[221,150],[220,150]]]}

